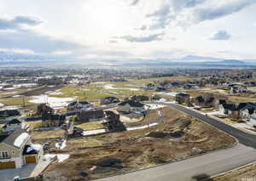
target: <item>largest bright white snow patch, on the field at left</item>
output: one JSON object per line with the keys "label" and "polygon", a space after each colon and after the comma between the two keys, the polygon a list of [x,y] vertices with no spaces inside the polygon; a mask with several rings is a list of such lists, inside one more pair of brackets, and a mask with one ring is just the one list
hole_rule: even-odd
{"label": "largest bright white snow patch, on the field at left", "polygon": [[32,96],[32,100],[29,100],[31,103],[42,104],[47,102],[52,108],[61,108],[67,106],[67,103],[73,101],[73,98],[55,98],[48,97],[45,94]]}

